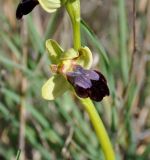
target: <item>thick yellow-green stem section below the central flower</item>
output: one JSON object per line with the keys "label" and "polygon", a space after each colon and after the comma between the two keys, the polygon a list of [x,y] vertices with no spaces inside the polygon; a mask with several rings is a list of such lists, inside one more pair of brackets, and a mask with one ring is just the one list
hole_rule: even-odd
{"label": "thick yellow-green stem section below the central flower", "polygon": [[99,142],[101,144],[102,150],[105,155],[106,160],[115,160],[115,154],[111,145],[111,142],[109,140],[107,131],[103,125],[103,122],[95,109],[94,104],[89,98],[86,99],[80,99],[81,103],[83,104],[85,110],[87,111],[90,120],[93,124],[93,127],[96,131],[97,137],[99,139]]}

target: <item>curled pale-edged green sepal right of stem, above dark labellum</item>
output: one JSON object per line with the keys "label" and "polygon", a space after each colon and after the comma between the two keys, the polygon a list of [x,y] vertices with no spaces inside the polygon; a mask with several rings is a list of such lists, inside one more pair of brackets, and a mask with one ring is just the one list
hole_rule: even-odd
{"label": "curled pale-edged green sepal right of stem, above dark labellum", "polygon": [[81,65],[86,69],[90,69],[92,66],[93,57],[90,49],[88,47],[81,47],[79,49],[79,57],[77,59],[77,64]]}

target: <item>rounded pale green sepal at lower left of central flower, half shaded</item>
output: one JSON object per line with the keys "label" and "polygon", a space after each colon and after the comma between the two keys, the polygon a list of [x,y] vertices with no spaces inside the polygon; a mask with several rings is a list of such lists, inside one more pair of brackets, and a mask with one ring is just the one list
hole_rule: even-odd
{"label": "rounded pale green sepal at lower left of central flower, half shaded", "polygon": [[69,83],[66,79],[56,74],[52,76],[42,87],[42,97],[46,100],[54,100],[61,96],[69,88]]}

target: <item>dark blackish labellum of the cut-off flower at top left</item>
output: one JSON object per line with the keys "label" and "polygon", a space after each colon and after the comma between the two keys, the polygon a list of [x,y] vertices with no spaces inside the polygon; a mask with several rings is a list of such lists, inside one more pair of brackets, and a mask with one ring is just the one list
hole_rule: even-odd
{"label": "dark blackish labellum of the cut-off flower at top left", "polygon": [[22,0],[16,10],[17,19],[21,19],[23,15],[30,13],[38,4],[39,2],[37,0]]}

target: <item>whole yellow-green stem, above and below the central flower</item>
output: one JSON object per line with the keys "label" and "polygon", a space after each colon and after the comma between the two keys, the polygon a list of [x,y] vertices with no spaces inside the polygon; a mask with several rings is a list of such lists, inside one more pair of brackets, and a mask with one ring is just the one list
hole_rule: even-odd
{"label": "whole yellow-green stem, above and below the central flower", "polygon": [[[66,9],[71,18],[73,26],[73,42],[74,48],[78,50],[81,47],[81,33],[80,33],[80,0],[74,0],[73,2],[68,1],[66,4]],[[109,140],[108,134],[105,130],[103,122],[95,109],[92,101],[89,98],[81,99],[85,110],[87,111],[91,122],[96,131],[97,137],[103,149],[106,160],[115,160],[115,154]]]}

